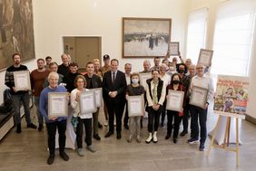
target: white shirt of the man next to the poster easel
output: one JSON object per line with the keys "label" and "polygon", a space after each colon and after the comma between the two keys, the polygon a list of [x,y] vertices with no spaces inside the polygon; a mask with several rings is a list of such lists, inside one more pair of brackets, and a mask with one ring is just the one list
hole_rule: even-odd
{"label": "white shirt of the man next to the poster easel", "polygon": [[191,92],[192,92],[193,86],[197,86],[197,87],[201,87],[209,90],[208,96],[207,96],[207,102],[210,103],[213,101],[214,88],[213,88],[212,77],[205,74],[202,77],[199,77],[198,75],[196,75],[192,78],[192,81],[191,81],[191,87],[190,87]]}

